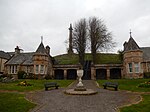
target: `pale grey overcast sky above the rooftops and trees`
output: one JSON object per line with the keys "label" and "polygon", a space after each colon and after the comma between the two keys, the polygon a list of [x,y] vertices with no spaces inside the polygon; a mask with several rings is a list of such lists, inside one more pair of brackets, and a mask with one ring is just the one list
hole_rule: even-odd
{"label": "pale grey overcast sky above the rooftops and trees", "polygon": [[69,24],[81,18],[103,19],[123,49],[129,30],[140,47],[150,47],[150,0],[0,0],[0,50],[34,52],[44,37],[51,55],[66,53]]}

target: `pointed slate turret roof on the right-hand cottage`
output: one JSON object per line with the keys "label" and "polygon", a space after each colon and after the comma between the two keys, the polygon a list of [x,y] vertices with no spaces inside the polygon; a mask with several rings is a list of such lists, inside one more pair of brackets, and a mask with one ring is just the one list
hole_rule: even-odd
{"label": "pointed slate turret roof on the right-hand cottage", "polygon": [[130,37],[128,42],[125,42],[125,48],[124,51],[132,51],[132,50],[139,50],[140,47],[138,46],[138,44],[135,42],[135,40]]}

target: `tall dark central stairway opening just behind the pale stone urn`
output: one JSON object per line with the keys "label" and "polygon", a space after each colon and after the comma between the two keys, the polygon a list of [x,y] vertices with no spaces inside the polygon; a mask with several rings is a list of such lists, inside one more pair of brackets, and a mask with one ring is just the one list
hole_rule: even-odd
{"label": "tall dark central stairway opening just behind the pale stone urn", "polygon": [[84,62],[84,68],[83,68],[84,72],[83,72],[83,80],[91,80],[91,61],[90,60],[86,60]]}

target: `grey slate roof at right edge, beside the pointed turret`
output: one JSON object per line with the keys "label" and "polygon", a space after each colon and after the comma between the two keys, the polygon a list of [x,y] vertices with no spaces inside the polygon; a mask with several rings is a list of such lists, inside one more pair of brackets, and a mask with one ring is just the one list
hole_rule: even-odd
{"label": "grey slate roof at right edge, beside the pointed turret", "polygon": [[150,47],[141,47],[140,49],[143,51],[143,59],[150,61]]}

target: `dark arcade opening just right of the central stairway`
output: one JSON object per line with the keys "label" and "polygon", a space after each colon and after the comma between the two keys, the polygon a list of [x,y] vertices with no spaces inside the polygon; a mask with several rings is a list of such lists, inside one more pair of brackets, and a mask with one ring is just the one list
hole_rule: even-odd
{"label": "dark arcade opening just right of the central stairway", "polygon": [[97,69],[96,70],[96,79],[107,79],[106,69]]}

